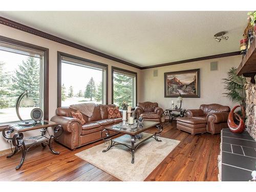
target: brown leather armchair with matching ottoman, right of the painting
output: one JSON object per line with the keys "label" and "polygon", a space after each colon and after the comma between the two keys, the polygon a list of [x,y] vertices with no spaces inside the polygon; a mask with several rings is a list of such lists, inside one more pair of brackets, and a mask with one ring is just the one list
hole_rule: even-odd
{"label": "brown leather armchair with matching ottoman, right of the painting", "polygon": [[187,110],[185,117],[177,118],[177,129],[195,135],[198,133],[217,134],[227,127],[229,106],[202,104],[200,109]]}

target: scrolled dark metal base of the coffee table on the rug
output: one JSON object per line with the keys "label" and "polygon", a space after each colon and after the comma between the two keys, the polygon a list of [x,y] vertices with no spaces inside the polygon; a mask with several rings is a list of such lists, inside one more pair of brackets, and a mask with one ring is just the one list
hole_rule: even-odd
{"label": "scrolled dark metal base of the coffee table on the rug", "polygon": [[[103,139],[104,143],[108,144],[108,147],[105,150],[103,150],[102,152],[105,153],[105,152],[109,151],[113,146],[123,145],[123,146],[127,147],[128,150],[131,152],[131,154],[132,154],[132,163],[134,163],[134,154],[135,154],[135,151],[138,148],[138,146],[140,146],[142,143],[144,143],[146,140],[148,140],[150,138],[154,138],[158,142],[162,141],[162,140],[158,139],[158,136],[160,136],[161,132],[163,131],[163,126],[161,124],[159,124],[159,125],[156,125],[156,127],[157,127],[157,132],[155,134],[153,134],[152,136],[144,139],[143,141],[139,142],[138,144],[136,144],[135,136],[130,135],[131,136],[131,145],[127,145],[127,144],[124,144],[124,143],[121,143],[121,142],[113,141],[113,139],[110,137],[109,130],[104,129],[101,132],[101,138]],[[105,137],[103,137],[103,134],[105,134]]]}

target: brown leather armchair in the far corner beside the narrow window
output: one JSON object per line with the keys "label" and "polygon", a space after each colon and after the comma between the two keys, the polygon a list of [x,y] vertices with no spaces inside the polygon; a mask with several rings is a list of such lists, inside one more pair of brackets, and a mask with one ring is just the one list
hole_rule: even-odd
{"label": "brown leather armchair in the far corner beside the narrow window", "polygon": [[159,108],[158,103],[156,102],[141,102],[135,108],[135,116],[137,117],[137,119],[140,115],[142,115],[144,120],[161,122],[162,114],[163,109]]}

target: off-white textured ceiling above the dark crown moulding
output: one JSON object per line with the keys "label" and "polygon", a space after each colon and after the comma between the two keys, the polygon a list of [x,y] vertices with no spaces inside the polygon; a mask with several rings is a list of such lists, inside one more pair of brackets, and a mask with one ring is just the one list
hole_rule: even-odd
{"label": "off-white textured ceiling above the dark crown moulding", "polygon": [[[0,16],[145,67],[239,51],[247,11],[1,11]],[[227,31],[229,39],[213,36]]]}

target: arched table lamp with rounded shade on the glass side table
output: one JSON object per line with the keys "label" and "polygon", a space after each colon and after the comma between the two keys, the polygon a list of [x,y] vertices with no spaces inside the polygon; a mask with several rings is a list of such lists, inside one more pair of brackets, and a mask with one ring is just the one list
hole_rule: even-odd
{"label": "arched table lamp with rounded shade on the glass side table", "polygon": [[[26,95],[25,98],[23,98]],[[16,102],[16,114],[19,118],[20,121],[22,121],[22,123],[17,123],[20,126],[31,126],[33,124],[35,124],[35,121],[24,121],[20,115],[19,115],[19,106],[25,106],[25,107],[29,107],[29,106],[34,106],[35,102],[32,98],[28,97],[28,90],[24,91],[22,94],[19,95],[17,102]]]}

